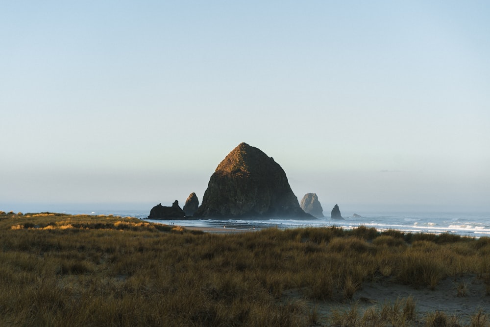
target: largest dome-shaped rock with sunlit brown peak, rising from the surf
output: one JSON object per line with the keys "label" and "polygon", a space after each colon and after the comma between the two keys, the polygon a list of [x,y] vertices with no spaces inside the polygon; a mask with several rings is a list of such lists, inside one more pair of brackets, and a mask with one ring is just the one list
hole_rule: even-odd
{"label": "largest dome-shaped rock with sunlit brown peak, rising from the surf", "polygon": [[299,207],[281,166],[246,143],[239,144],[218,165],[195,216],[314,218]]}

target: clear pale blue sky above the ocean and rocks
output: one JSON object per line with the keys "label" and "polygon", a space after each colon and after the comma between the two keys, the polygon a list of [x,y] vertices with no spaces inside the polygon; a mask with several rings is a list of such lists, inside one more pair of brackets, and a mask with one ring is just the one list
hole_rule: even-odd
{"label": "clear pale blue sky above the ocean and rocks", "polygon": [[4,1],[0,210],[202,196],[239,143],[298,197],[490,210],[489,1]]}

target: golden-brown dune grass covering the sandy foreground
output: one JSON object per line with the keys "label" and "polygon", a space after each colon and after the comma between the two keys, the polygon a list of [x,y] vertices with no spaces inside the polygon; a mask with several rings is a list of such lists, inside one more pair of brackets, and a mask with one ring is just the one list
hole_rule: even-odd
{"label": "golden-brown dune grass covering the sandy foreground", "polygon": [[[210,234],[135,218],[0,212],[0,326],[489,326],[476,310],[360,309],[364,283],[437,289],[473,274],[490,238],[372,228]],[[455,296],[465,296],[465,285]],[[288,295],[289,294],[289,295]],[[294,294],[294,295],[291,295]],[[345,310],[324,310],[345,305]]]}

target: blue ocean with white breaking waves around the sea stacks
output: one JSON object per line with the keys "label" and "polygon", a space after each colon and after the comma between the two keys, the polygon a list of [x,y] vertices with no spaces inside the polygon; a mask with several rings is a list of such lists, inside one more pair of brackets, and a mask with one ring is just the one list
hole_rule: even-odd
{"label": "blue ocean with white breaking waves around the sea stacks", "polygon": [[[73,211],[67,213],[113,214],[130,216],[139,219],[147,218],[149,210],[98,210],[90,212]],[[202,226],[215,228],[236,228],[258,230],[269,227],[279,229],[297,227],[337,226],[352,229],[358,226],[374,227],[377,230],[399,230],[410,233],[453,233],[462,236],[490,236],[490,212],[407,212],[407,211],[372,211],[360,213],[361,217],[343,214],[344,220],[331,219],[329,212],[325,218],[312,220],[270,219],[198,219],[198,220],[147,220],[163,224],[181,226]]]}

